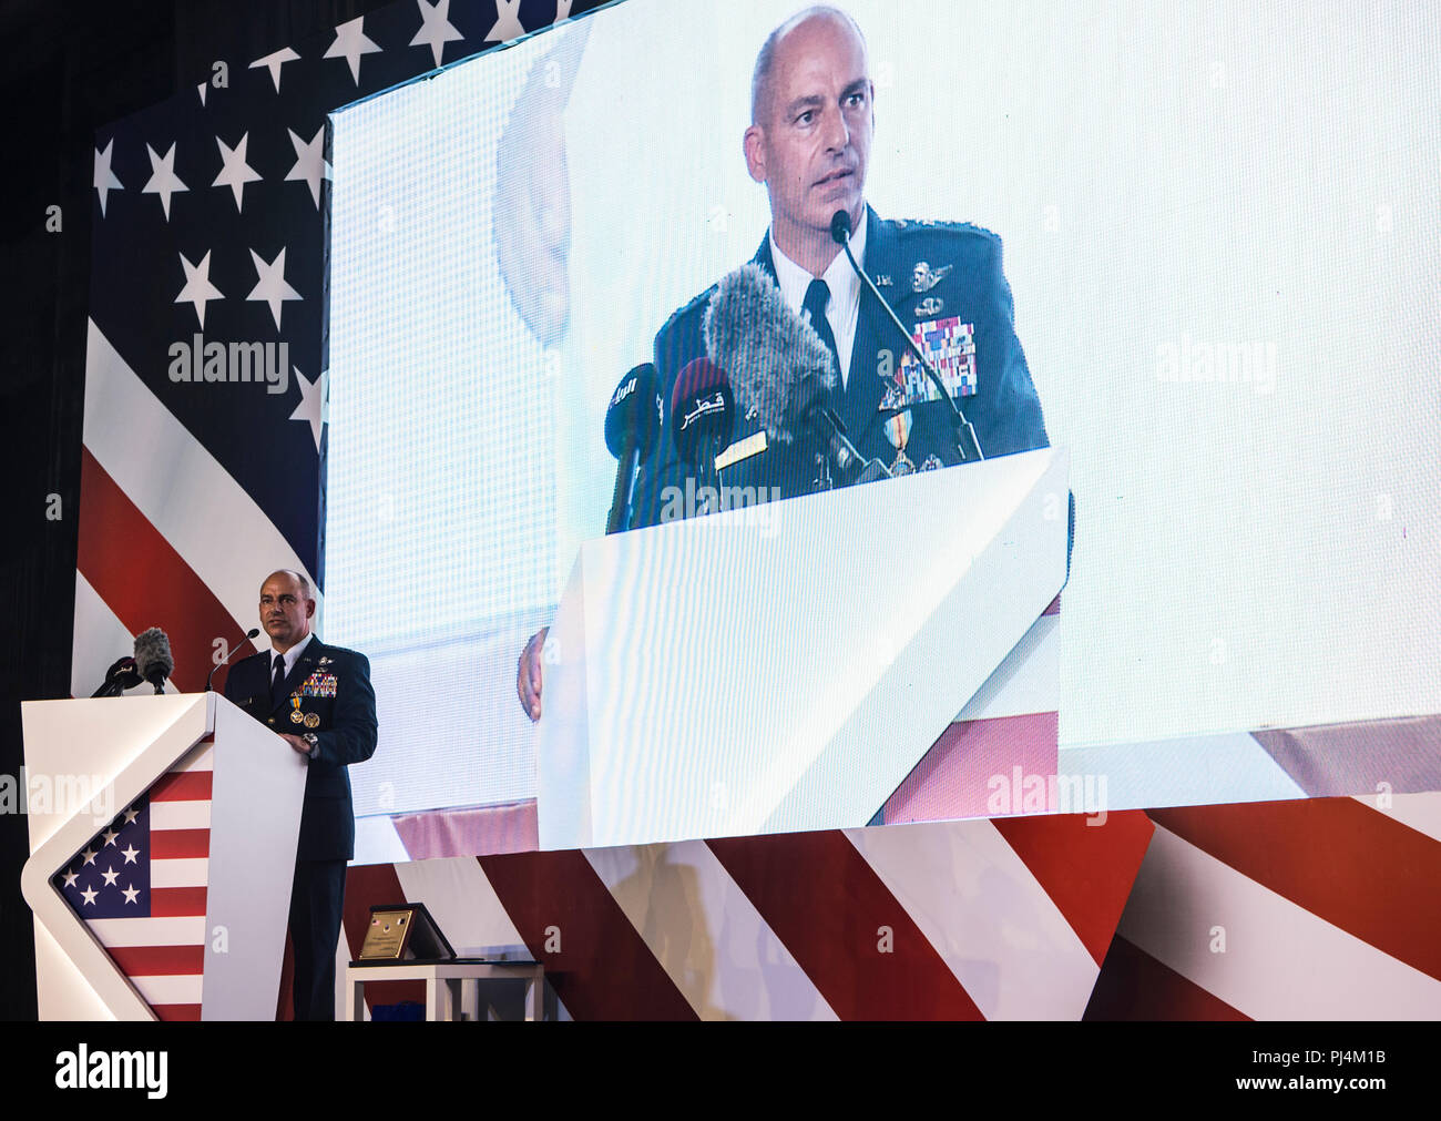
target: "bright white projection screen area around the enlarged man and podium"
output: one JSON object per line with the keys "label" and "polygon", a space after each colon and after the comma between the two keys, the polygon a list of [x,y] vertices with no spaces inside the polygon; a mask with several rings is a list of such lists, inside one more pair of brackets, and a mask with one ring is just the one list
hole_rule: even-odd
{"label": "bright white projection screen area around the enlarged man and podium", "polygon": [[[795,4],[682,7],[333,118],[326,637],[370,656],[383,736],[359,816],[535,795],[516,658],[604,532],[611,390],[767,233],[742,134]],[[1441,13],[844,9],[867,200],[1003,239],[1069,448],[1061,746],[1441,712]]]}

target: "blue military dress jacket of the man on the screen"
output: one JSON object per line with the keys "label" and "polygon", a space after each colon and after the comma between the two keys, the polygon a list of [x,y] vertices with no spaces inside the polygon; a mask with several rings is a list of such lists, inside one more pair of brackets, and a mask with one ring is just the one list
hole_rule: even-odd
{"label": "blue military dress jacket of the man on the screen", "polygon": [[[769,236],[752,259],[775,277]],[[963,223],[883,222],[867,210],[862,267],[906,327],[940,340],[941,347],[973,347],[974,380],[967,390],[974,388],[974,392],[958,396],[957,402],[976,428],[986,458],[1049,447],[1040,402],[1013,326],[1000,238]],[[661,431],[637,478],[631,527],[669,520],[673,514],[667,507],[674,510],[676,503],[667,503],[667,496],[686,490],[690,468],[676,452],[670,396],[679,372],[706,353],[703,324],[713,292],[715,287],[692,300],[656,336]],[[898,450],[886,437],[885,422],[908,408],[912,425],[905,455],[911,464],[918,470],[958,464],[950,406],[938,398],[922,399],[914,380],[908,390],[896,379],[906,350],[885,310],[862,290],[849,378],[844,389],[836,379],[831,405],[852,444],[867,460],[879,458],[888,467],[896,461]],[[944,352],[935,350],[932,356],[937,353]],[[755,419],[738,416],[732,442],[757,431]],[[788,445],[768,441],[764,452],[726,467],[720,484],[764,488],[765,497],[778,488],[780,497],[790,499],[816,490],[818,474],[816,442],[797,435]],[[669,491],[672,487],[679,491]]]}

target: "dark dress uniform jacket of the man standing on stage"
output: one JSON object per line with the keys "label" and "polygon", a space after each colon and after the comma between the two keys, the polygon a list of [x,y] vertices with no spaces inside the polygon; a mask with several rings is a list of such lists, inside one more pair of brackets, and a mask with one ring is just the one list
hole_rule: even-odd
{"label": "dark dress uniform jacket of the man standing on stage", "polygon": [[[225,680],[225,696],[277,733],[316,733],[318,754],[305,775],[295,859],[350,860],[356,820],[346,767],[375,754],[370,663],[354,650],[311,638],[285,679],[284,700],[272,706],[272,658],[267,650],[238,661]],[[298,722],[293,712],[300,713]]]}

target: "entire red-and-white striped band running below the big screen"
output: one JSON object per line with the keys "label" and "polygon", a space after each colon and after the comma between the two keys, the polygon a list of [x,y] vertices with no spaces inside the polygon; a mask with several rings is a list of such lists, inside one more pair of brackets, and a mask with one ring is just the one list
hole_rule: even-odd
{"label": "entire red-and-white striped band running below the big screen", "polygon": [[[372,903],[419,901],[457,951],[542,963],[575,1020],[1441,1016],[1441,794],[1089,821],[352,867],[347,950]],[[421,1000],[406,984],[366,997]]]}

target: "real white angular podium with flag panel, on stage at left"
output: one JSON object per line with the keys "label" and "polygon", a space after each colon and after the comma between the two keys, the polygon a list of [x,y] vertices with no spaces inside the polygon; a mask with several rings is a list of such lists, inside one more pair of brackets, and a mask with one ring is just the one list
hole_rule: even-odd
{"label": "real white angular podium with flag panel, on stage at left", "polygon": [[22,719],[40,1019],[272,1020],[304,759],[216,693]]}

